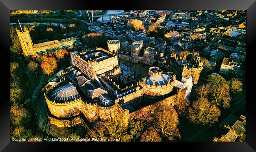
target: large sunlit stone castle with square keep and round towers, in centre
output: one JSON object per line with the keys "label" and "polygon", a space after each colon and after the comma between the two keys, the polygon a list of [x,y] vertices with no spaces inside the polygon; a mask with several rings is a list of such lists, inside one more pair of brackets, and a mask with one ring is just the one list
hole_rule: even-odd
{"label": "large sunlit stone castle with square keep and round towers, in centre", "polygon": [[175,105],[189,97],[193,80],[177,80],[173,72],[150,67],[148,76],[121,89],[117,56],[102,48],[70,53],[71,65],[59,73],[59,82],[46,88],[50,123],[58,127],[81,124],[89,128],[96,120],[119,118],[128,125],[139,110],[156,104]]}

